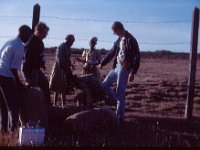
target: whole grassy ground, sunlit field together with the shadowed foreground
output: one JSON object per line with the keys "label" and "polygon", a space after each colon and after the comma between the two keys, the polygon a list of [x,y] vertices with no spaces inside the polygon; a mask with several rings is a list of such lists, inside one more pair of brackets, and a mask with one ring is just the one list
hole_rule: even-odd
{"label": "whole grassy ground, sunlit field together with the shadowed foreground", "polygon": [[[55,53],[47,52],[47,77],[50,76]],[[72,55],[74,74],[80,75],[82,64]],[[193,105],[194,119],[184,118],[187,83],[189,76],[189,54],[143,53],[135,80],[126,90],[125,126],[107,134],[89,137],[68,137],[68,142],[57,133],[65,146],[101,147],[192,147],[200,145],[200,61],[197,60],[196,84]],[[111,69],[112,62],[100,72],[102,78]],[[73,93],[66,96],[65,107],[74,107]],[[59,103],[58,105],[60,105]],[[101,107],[101,106],[100,106]],[[111,107],[115,110],[115,107]],[[65,137],[66,138],[66,137]],[[51,141],[51,140],[49,140]],[[76,142],[74,142],[76,141]],[[49,142],[48,145],[53,145]],[[73,143],[73,144],[72,144]],[[59,144],[60,145],[60,144]]]}

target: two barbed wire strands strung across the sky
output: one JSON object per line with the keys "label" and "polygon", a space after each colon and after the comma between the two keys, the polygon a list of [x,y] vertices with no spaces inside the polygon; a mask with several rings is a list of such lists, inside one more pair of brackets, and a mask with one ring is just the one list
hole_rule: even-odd
{"label": "two barbed wire strands strung across the sky", "polygon": [[[0,20],[1,19],[32,19],[32,16],[19,16],[19,15],[0,15]],[[58,17],[58,16],[42,16],[41,18],[43,19],[52,19],[55,21],[77,21],[77,22],[99,22],[99,23],[111,23],[114,22],[114,20],[105,20],[105,19],[90,19],[90,18],[70,18],[70,17]],[[177,20],[153,20],[153,21],[130,21],[130,20],[120,20],[123,23],[128,23],[128,24],[183,24],[183,23],[190,23],[191,20],[188,19],[177,19]],[[13,38],[13,36],[6,36],[6,35],[0,35],[0,39],[9,39],[9,38]],[[54,37],[54,36],[48,36],[46,38],[47,40],[63,40],[63,38],[61,37]],[[86,38],[76,38],[76,41],[88,41],[88,39]],[[110,40],[98,40],[99,42],[102,43],[113,43],[113,41]],[[174,42],[149,42],[149,41],[143,41],[143,42],[139,42],[140,45],[152,45],[152,46],[156,46],[156,45],[160,45],[160,46],[179,46],[179,45],[189,45],[190,41],[174,41]],[[48,46],[48,44],[47,44]]]}

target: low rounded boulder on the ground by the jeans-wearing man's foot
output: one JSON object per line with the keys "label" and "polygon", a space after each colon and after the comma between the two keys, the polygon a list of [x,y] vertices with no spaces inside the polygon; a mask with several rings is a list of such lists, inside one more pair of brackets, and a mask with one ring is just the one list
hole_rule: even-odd
{"label": "low rounded boulder on the ground by the jeans-wearing man's foot", "polygon": [[118,119],[110,108],[96,108],[69,116],[66,129],[76,135],[109,132],[118,126]]}

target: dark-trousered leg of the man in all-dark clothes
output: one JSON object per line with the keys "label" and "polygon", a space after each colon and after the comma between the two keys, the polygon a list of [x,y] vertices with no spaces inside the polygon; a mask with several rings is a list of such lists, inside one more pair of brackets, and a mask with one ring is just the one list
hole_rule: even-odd
{"label": "dark-trousered leg of the man in all-dark clothes", "polygon": [[39,71],[38,85],[41,88],[41,90],[44,92],[44,97],[45,97],[46,103],[51,104],[49,82],[41,70]]}

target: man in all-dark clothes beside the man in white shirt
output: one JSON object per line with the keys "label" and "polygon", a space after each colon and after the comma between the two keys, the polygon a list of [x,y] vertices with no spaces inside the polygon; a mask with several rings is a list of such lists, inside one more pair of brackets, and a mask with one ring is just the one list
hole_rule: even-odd
{"label": "man in all-dark clothes beside the man in white shirt", "polygon": [[25,48],[22,72],[26,85],[40,87],[44,92],[46,103],[51,104],[48,79],[41,70],[46,70],[43,54],[45,47],[42,40],[47,36],[48,31],[49,27],[43,22],[39,22],[35,26],[34,34]]}

